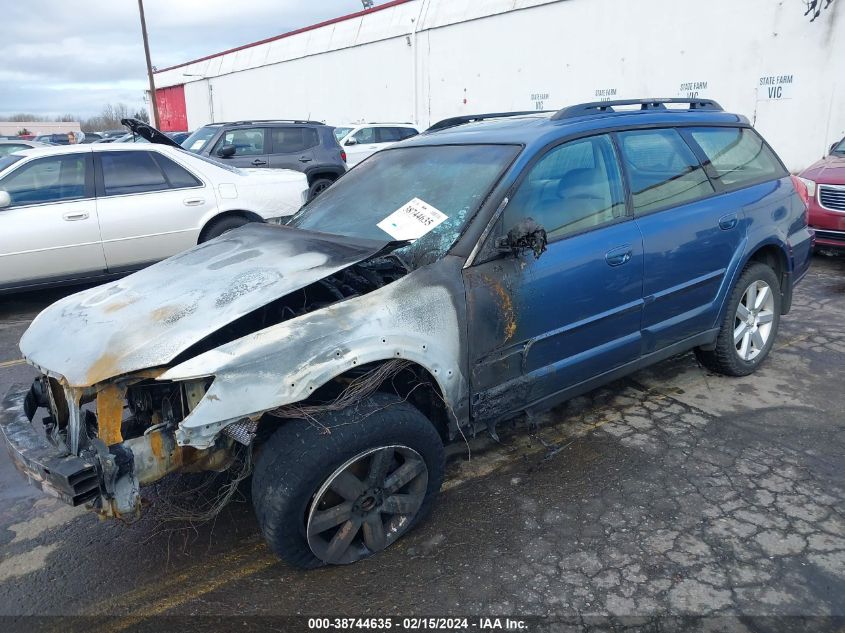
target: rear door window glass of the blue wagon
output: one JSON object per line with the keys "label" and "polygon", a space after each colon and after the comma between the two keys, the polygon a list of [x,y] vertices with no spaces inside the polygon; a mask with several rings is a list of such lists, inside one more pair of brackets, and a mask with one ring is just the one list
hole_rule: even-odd
{"label": "rear door window glass of the blue wagon", "polygon": [[678,206],[715,191],[677,130],[622,132],[619,140],[638,213]]}

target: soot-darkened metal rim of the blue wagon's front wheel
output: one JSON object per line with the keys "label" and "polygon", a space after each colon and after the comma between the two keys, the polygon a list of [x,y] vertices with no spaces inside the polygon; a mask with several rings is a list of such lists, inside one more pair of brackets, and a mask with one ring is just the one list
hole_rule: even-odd
{"label": "soot-darkened metal rim of the blue wagon's front wheel", "polygon": [[306,523],[308,547],[325,563],[354,563],[379,552],[413,523],[428,489],[428,467],[414,449],[359,453],[320,486]]}

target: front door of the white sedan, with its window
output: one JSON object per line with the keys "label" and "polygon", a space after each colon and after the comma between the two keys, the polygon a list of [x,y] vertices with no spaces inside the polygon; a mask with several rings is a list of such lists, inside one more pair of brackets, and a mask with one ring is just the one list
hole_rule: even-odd
{"label": "front door of the white sedan, with its window", "polygon": [[0,180],[0,286],[103,273],[91,152],[39,158]]}

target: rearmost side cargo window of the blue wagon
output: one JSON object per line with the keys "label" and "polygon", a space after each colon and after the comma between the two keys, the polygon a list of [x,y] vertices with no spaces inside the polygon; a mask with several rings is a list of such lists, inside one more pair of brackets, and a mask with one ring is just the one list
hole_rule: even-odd
{"label": "rearmost side cargo window of the blue wagon", "polygon": [[690,134],[707,156],[716,180],[727,190],[784,175],[763,139],[748,128],[695,128]]}

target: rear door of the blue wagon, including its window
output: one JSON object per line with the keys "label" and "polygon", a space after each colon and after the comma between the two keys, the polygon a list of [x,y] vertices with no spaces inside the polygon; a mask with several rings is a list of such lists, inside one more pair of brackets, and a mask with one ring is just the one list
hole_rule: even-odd
{"label": "rear door of the blue wagon, including its window", "polygon": [[643,354],[713,328],[717,298],[745,234],[742,207],[717,194],[677,129],[620,132],[643,235]]}

